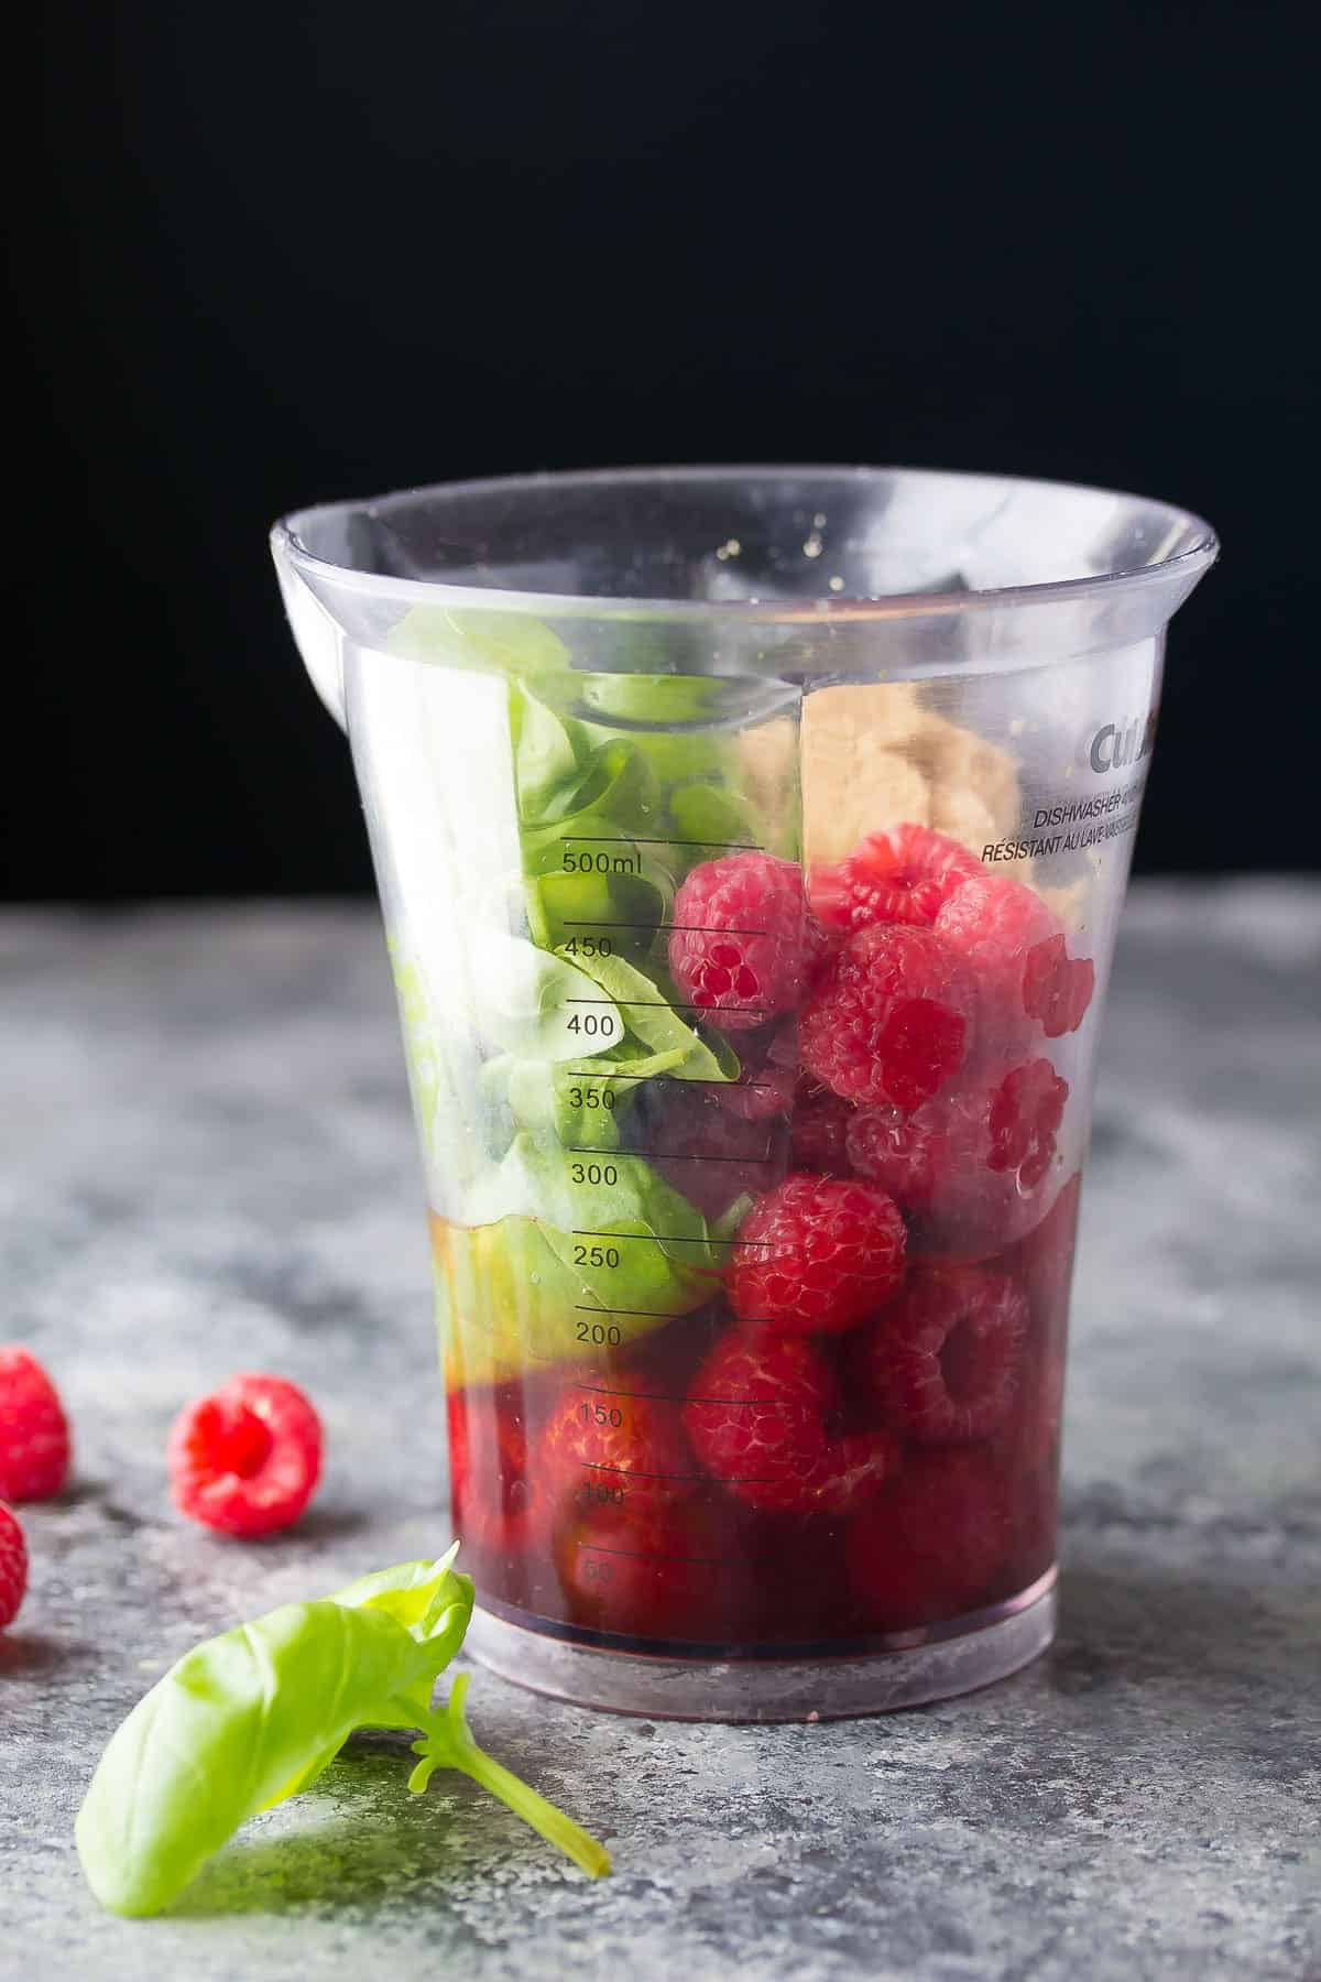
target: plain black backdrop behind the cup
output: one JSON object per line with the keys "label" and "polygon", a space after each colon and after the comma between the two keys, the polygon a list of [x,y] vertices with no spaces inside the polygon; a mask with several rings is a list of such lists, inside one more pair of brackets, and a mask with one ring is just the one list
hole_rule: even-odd
{"label": "plain black backdrop behind the cup", "polygon": [[50,6],[10,75],[36,444],[4,890],[366,888],[271,517],[675,460],[1004,470],[1202,511],[1224,561],[1174,624],[1139,866],[1313,864],[1305,20]]}

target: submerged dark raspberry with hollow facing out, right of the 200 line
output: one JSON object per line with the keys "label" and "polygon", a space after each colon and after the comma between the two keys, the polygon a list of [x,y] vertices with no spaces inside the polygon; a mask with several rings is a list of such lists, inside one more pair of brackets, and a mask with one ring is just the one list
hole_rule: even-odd
{"label": "submerged dark raspberry with hollow facing out, right of the 200 line", "polygon": [[968,1445],[1008,1417],[1028,1296],[982,1266],[917,1268],[865,1344],[889,1423],[919,1445]]}

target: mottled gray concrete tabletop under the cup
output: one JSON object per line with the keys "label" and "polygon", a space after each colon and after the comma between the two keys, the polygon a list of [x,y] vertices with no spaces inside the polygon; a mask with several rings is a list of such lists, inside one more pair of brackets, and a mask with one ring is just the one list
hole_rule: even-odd
{"label": "mottled gray concrete tabletop under the cup", "polygon": [[[487,1744],[614,1847],[588,1885],[386,1738],[152,1923],[71,1823],[196,1637],[434,1550],[442,1407],[380,934],[356,908],[0,918],[4,1314],[77,1481],[0,1639],[0,1974],[584,1982],[1321,1974],[1321,894],[1135,890],[1105,1023],[1067,1407],[1064,1629],[972,1699],[790,1728],[612,1720],[477,1675]],[[180,1524],[162,1441],[305,1381],[305,1526]]]}

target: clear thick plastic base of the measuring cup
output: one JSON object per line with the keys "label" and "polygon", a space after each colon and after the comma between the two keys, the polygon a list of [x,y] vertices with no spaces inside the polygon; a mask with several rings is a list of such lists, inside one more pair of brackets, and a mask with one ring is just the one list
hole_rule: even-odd
{"label": "clear thick plastic base of the measuring cup", "polygon": [[650,1720],[850,1720],[974,1693],[1030,1665],[1056,1635],[1056,1570],[919,1643],[856,1655],[658,1657],[574,1643],[477,1605],[465,1649],[501,1679],[574,1707]]}

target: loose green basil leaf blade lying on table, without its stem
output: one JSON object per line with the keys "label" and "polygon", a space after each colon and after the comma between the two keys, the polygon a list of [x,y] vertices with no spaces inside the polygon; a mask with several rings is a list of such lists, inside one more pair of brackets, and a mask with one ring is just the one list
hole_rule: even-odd
{"label": "loose green basil leaf blade lying on table, without its stem", "polygon": [[186,1653],[111,1736],[77,1814],[101,1905],[158,1913],[246,1817],[315,1782],[355,1728],[426,1724],[473,1605],[450,1560],[283,1603]]}

